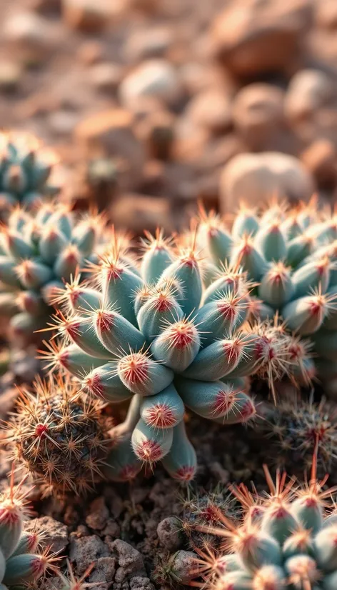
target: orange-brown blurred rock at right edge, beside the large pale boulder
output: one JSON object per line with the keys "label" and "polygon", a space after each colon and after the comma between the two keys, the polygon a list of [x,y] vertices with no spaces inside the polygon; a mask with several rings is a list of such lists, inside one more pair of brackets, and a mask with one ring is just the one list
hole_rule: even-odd
{"label": "orange-brown blurred rock at right edge, beside the large pale boulder", "polygon": [[337,180],[336,146],[328,139],[317,139],[301,154],[306,168],[315,176],[318,186],[332,188]]}

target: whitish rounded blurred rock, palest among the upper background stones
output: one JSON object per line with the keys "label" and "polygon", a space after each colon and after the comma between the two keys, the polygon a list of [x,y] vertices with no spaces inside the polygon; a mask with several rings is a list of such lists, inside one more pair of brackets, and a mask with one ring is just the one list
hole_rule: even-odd
{"label": "whitish rounded blurred rock, palest among the upper background stones", "polygon": [[154,96],[166,104],[181,97],[181,84],[176,69],[165,59],[144,61],[124,78],[119,86],[121,103],[129,108],[141,96]]}

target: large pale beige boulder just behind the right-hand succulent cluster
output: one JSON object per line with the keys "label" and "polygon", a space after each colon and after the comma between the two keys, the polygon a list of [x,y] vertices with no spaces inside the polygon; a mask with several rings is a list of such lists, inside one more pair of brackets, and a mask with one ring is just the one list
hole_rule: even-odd
{"label": "large pale beige boulder just behind the right-hand succulent cluster", "polygon": [[308,201],[314,189],[311,175],[293,156],[276,151],[239,154],[221,174],[221,211],[235,211],[240,200],[260,206],[273,196]]}

